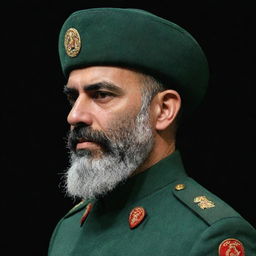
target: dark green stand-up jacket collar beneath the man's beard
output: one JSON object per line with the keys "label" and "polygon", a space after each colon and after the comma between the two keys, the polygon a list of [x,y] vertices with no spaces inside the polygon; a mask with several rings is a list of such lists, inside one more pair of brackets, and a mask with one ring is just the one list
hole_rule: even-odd
{"label": "dark green stand-up jacket collar beneath the man's beard", "polygon": [[118,185],[108,195],[99,199],[104,208],[131,205],[155,191],[186,176],[179,151],[175,151],[149,169]]}

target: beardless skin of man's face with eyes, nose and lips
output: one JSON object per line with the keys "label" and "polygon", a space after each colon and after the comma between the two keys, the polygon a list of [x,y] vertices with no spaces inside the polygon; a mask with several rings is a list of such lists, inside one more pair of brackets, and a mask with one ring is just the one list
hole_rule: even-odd
{"label": "beardless skin of man's face with eyes, nose and lips", "polygon": [[[90,67],[71,72],[65,91],[72,105],[68,115],[71,129],[79,124],[95,131],[115,128],[114,124],[136,116],[141,106],[141,77],[115,67]],[[101,145],[81,141],[74,150],[100,152]]]}

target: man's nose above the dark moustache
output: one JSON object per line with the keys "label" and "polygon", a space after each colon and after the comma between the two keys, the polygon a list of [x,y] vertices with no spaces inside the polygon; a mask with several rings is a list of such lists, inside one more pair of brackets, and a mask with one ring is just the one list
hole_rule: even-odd
{"label": "man's nose above the dark moustache", "polygon": [[89,126],[92,124],[92,115],[89,111],[89,102],[85,95],[80,95],[71,111],[67,116],[67,121],[71,126],[76,126],[77,124],[85,124]]}

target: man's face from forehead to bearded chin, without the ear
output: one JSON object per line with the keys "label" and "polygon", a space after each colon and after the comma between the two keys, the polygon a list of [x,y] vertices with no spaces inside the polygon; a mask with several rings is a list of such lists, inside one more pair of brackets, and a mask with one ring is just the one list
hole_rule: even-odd
{"label": "man's face from forehead to bearded chin, without the ear", "polygon": [[142,74],[95,66],[70,73],[64,89],[68,115],[70,167],[66,191],[93,199],[126,180],[154,145],[149,97],[142,97]]}

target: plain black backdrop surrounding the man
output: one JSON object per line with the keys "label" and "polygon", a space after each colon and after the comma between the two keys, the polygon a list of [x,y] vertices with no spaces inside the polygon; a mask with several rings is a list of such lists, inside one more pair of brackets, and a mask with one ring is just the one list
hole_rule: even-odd
{"label": "plain black backdrop surrounding the man", "polygon": [[64,20],[89,7],[142,8],[197,39],[210,65],[209,91],[181,128],[179,147],[188,173],[256,226],[255,17],[250,1],[223,2],[12,1],[3,8],[1,205],[7,255],[46,255],[57,221],[74,204],[60,185],[69,127],[57,42]]}

